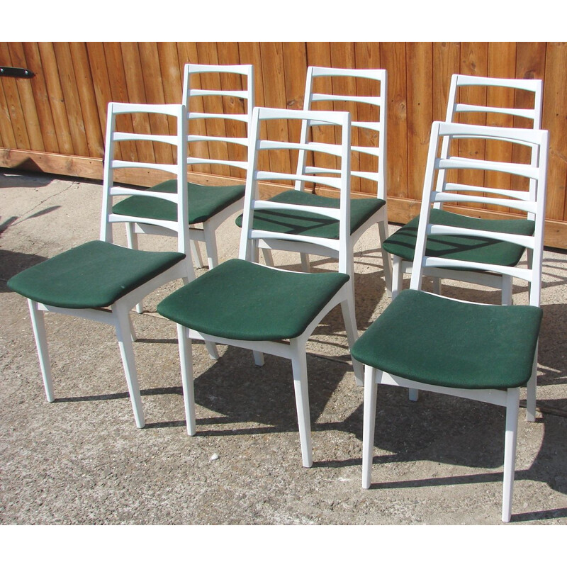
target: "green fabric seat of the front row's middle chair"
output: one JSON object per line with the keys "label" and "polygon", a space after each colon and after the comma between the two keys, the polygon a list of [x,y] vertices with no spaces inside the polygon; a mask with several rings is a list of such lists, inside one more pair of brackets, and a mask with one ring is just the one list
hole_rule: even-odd
{"label": "green fabric seat of the front row's middle chair", "polygon": [[348,280],[337,272],[300,274],[232,259],[172,293],[157,312],[215,337],[293,339]]}

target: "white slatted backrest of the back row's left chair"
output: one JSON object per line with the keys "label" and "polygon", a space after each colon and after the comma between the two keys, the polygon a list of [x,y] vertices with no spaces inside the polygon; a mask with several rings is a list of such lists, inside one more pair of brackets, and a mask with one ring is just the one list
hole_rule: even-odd
{"label": "white slatted backrest of the back row's left chair", "polygon": [[183,101],[189,121],[187,163],[200,165],[196,171],[242,177],[248,164],[254,67],[187,63]]}

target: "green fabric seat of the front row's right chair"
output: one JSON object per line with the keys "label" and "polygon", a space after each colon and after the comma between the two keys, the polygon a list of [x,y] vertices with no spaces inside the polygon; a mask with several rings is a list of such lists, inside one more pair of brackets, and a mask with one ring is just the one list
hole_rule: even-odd
{"label": "green fabric seat of the front row's right chair", "polygon": [[532,374],[543,311],[402,291],[351,349],[376,369],[452,388],[515,388]]}

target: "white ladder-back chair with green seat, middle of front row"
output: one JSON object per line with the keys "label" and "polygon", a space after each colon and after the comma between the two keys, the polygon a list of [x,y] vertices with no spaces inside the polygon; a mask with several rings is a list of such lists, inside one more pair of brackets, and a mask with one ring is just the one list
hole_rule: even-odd
{"label": "white ladder-back chair with green seat, middle of front row", "polygon": [[[279,142],[261,136],[267,120],[318,120],[341,128],[341,142]],[[266,129],[267,130],[267,129]],[[205,339],[254,351],[257,364],[263,364],[262,353],[291,359],[296,392],[298,425],[303,466],[313,464],[307,361],[305,348],[320,320],[335,305],[341,305],[349,345],[357,338],[354,317],[354,296],[349,286],[349,113],[292,111],[275,108],[255,108],[252,118],[252,144],[246,181],[244,219],[238,259],[223,262],[195,281],[159,303],[157,310],[177,323],[181,376],[184,389],[187,431],[196,433],[191,339]],[[340,191],[339,203],[329,207],[276,203],[259,199],[258,183],[270,180],[303,179],[313,181],[310,174],[268,172],[258,169],[261,152],[300,150],[324,152],[340,158],[338,177],[318,179]],[[314,213],[339,223],[339,239],[325,239],[301,234],[280,235],[253,228],[254,216],[266,210],[284,214]],[[287,271],[257,264],[257,242],[277,236],[291,242],[312,242],[335,247],[339,256],[339,271],[308,273]],[[354,363],[354,373],[361,384],[362,367]]]}

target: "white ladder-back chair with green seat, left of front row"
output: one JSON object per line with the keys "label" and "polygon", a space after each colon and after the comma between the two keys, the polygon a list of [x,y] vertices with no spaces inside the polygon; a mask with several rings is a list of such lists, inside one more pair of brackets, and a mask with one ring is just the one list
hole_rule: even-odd
{"label": "white ladder-back chair with green seat, left of front row", "polygon": [[[133,134],[116,130],[116,116],[122,114],[159,113],[176,120],[175,135]],[[191,281],[194,277],[189,254],[189,223],[186,192],[186,117],[185,106],[110,103],[106,127],[103,206],[100,240],[57,254],[32,266],[8,281],[12,291],[28,298],[30,315],[38,348],[40,367],[47,400],[55,397],[44,311],[74,315],[108,323],[116,327],[130,401],[137,427],[144,427],[144,413],[137,382],[132,341],[135,334],[129,311],[155,289],[174,279]],[[114,159],[117,143],[131,141],[172,145],[176,150],[176,165],[127,162]],[[124,222],[111,213],[115,196],[134,196],[142,191],[115,186],[113,172],[123,168],[159,169],[174,176],[175,193],[143,191],[156,199],[165,199],[178,211],[175,221],[152,219],[152,223],[179,233],[178,252],[144,252],[112,243],[111,223]],[[136,222],[137,218],[130,218]],[[148,221],[149,222],[149,221]]]}

